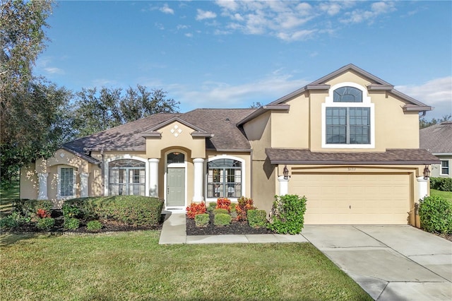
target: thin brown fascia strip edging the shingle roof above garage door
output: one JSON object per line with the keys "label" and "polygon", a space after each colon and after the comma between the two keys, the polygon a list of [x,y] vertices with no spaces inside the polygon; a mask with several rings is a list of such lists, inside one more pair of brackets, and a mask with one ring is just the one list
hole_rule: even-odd
{"label": "thin brown fascia strip edging the shingle roof above garage door", "polygon": [[434,160],[422,161],[306,161],[306,160],[270,160],[271,164],[288,165],[426,165],[439,164]]}

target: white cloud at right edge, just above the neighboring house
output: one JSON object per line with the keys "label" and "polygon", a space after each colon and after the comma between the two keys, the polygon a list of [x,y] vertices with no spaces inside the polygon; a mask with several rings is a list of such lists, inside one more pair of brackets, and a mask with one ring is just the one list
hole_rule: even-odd
{"label": "white cloud at right edge, just above the neighboring house", "polygon": [[427,119],[439,119],[452,114],[452,76],[435,78],[422,85],[399,85],[395,88],[434,107],[433,111],[427,112]]}

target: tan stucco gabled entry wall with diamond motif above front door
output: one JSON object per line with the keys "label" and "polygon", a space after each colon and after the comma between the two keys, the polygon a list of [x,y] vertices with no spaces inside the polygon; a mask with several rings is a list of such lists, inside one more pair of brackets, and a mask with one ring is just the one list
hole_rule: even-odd
{"label": "tan stucco gabled entry wall with diamond motif above front door", "polygon": [[[177,126],[177,129],[174,126]],[[179,129],[182,130],[181,133],[178,132]],[[175,130],[175,132],[172,133],[171,130]],[[146,138],[146,155],[148,155],[148,158],[160,158],[160,150],[169,147],[182,147],[191,150],[191,158],[206,158],[206,138],[191,136],[193,131],[194,129],[180,122],[167,124],[167,126],[158,130],[162,135],[161,137]],[[177,136],[174,135],[175,133],[177,133]]]}

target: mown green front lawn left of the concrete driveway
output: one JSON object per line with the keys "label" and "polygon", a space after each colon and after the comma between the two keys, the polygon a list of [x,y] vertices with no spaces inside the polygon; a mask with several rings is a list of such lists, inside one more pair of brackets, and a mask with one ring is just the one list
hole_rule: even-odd
{"label": "mown green front lawn left of the concrete driveway", "polygon": [[371,300],[309,243],[159,245],[159,235],[1,235],[2,300]]}

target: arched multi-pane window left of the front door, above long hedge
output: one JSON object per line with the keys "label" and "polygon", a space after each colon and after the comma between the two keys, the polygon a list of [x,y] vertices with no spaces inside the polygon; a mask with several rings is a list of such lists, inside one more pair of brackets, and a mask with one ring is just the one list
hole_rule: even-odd
{"label": "arched multi-pane window left of the front door, above long hedge", "polygon": [[109,195],[145,195],[145,163],[121,159],[112,161],[109,168]]}

